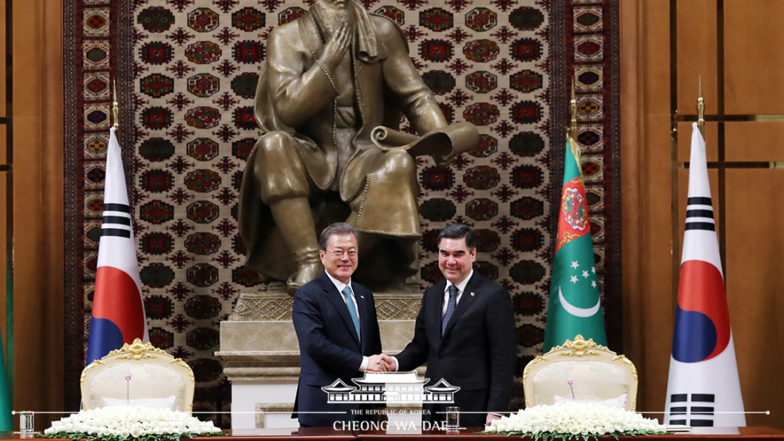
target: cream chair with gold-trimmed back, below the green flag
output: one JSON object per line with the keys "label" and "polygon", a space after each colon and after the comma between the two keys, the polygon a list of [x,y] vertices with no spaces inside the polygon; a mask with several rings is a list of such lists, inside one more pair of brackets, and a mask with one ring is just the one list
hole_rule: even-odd
{"label": "cream chair with gold-trimmed back, below the green flag", "polygon": [[523,392],[526,407],[575,400],[634,410],[637,368],[626,356],[578,334],[526,365]]}

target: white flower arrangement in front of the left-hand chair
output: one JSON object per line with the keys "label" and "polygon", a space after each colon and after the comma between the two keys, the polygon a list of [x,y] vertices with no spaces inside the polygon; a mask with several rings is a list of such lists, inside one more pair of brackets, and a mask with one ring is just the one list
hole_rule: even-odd
{"label": "white flower arrangement in front of the left-hand chair", "polygon": [[147,441],[221,435],[212,421],[158,407],[111,406],[81,410],[53,421],[42,437]]}

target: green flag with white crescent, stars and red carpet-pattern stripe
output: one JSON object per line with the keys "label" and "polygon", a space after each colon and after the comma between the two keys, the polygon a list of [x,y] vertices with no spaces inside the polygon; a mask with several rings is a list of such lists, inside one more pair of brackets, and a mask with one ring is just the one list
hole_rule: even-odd
{"label": "green flag with white crescent, stars and red carpet-pattern stripe", "polygon": [[575,152],[579,152],[576,143],[568,139],[543,352],[573,340],[577,334],[607,345],[586,190],[575,159],[579,153]]}

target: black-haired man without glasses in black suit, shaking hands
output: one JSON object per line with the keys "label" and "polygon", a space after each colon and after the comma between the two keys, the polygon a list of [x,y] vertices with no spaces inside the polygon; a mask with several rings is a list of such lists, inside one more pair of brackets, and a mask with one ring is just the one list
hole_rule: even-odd
{"label": "black-haired man without glasses in black suit, shaking hands", "polygon": [[438,268],[446,280],[425,290],[412,342],[395,357],[394,370],[412,371],[427,362],[430,385],[443,378],[459,386],[454,404],[425,403],[423,421],[443,421],[446,406],[460,407],[464,426],[489,425],[509,411],[517,359],[509,293],[473,269],[474,232],[463,224],[438,235]]}

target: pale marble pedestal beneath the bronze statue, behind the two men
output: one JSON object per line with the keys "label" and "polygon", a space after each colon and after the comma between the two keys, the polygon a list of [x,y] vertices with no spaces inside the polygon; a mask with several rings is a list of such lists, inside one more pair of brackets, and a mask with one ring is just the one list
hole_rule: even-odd
{"label": "pale marble pedestal beneath the bronze statue, behind the two men", "polygon": [[[383,351],[397,353],[411,342],[422,295],[374,293],[374,297]],[[216,356],[223,358],[223,373],[231,382],[231,428],[299,426],[291,418],[299,378],[299,345],[291,311],[292,297],[285,292],[244,294],[229,320],[221,322]],[[402,413],[398,409],[396,418]]]}

